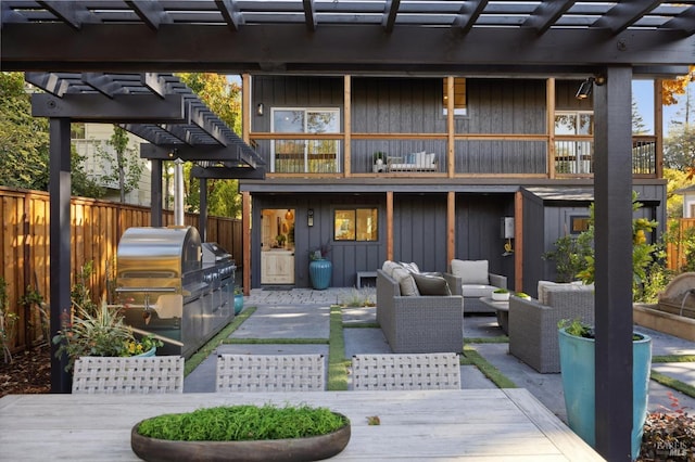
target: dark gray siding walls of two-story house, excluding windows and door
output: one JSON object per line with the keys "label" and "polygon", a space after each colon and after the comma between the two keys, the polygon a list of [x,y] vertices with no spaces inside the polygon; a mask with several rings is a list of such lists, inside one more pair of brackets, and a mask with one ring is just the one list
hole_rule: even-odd
{"label": "dark gray siding walls of two-story house, excluding windows and door", "polygon": [[[357,271],[374,271],[387,258],[415,261],[428,271],[448,270],[450,258],[488,259],[492,272],[507,275],[510,288],[531,295],[536,295],[539,280],[555,278],[552,264],[541,260],[541,255],[564,234],[569,217],[589,214],[593,192],[590,198],[572,192],[577,188],[591,190],[593,179],[587,175],[555,178],[551,171],[553,127],[548,127],[547,80],[468,78],[467,114],[454,117],[453,133],[444,114],[443,81],[440,77],[353,77],[346,91],[343,77],[253,77],[250,107],[263,103],[265,111],[264,115],[253,112],[250,139],[268,163],[274,137],[269,136],[271,107],[338,108],[342,131],[338,137],[351,133],[345,138],[350,145],[341,146],[350,159],[349,171],[341,169],[331,176],[269,172],[263,184],[240,182],[241,190],[251,193],[254,220],[260,219],[263,208],[295,209],[295,286],[311,285],[308,252],[325,242],[332,246],[333,286],[354,286]],[[578,81],[553,84],[556,112],[592,110],[591,100],[574,98]],[[351,114],[350,120],[345,114]],[[254,133],[262,136],[255,140]],[[447,170],[450,146],[453,171]],[[437,154],[437,171],[371,175],[376,151],[401,156],[422,150]],[[283,181],[290,179],[293,181]],[[343,192],[333,192],[332,184]],[[553,188],[560,197],[565,191],[566,197],[558,201],[536,195],[528,190],[531,187]],[[647,205],[640,214],[665,222],[666,182],[641,178],[634,189]],[[452,192],[454,218],[450,221]],[[389,193],[393,201],[390,222]],[[378,208],[377,242],[332,240],[333,211],[345,205]],[[309,208],[315,217],[311,228],[306,226]],[[515,216],[519,210],[521,215]],[[511,255],[504,255],[503,217],[515,218],[516,235],[521,236],[508,242]],[[393,231],[387,236],[389,224]],[[261,248],[253,244],[260,242],[258,229],[254,221],[253,287],[260,286],[261,280]]]}

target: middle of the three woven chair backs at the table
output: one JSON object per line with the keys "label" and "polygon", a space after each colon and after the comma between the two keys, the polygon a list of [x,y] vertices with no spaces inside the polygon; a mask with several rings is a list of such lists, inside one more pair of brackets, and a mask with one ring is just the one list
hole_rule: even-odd
{"label": "middle of the three woven chair backs at the table", "polygon": [[219,355],[217,392],[323,392],[324,355]]}

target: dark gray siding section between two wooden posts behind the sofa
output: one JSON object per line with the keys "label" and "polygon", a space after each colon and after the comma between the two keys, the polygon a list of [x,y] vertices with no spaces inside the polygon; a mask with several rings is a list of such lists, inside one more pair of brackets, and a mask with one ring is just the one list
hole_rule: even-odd
{"label": "dark gray siding section between two wooden posts behind the sofa", "polygon": [[393,259],[446,271],[446,194],[395,194]]}

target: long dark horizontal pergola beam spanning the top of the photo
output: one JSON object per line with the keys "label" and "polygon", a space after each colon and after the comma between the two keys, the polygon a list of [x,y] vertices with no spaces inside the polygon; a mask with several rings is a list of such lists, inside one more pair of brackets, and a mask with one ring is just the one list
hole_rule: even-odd
{"label": "long dark horizontal pergola beam spanning the top of the photo", "polygon": [[[60,47],[47,47],[60,37]],[[200,43],[215,43],[200,47]],[[507,43],[500,47],[500,43]],[[531,28],[452,28],[399,26],[392,34],[371,25],[321,25],[306,34],[304,25],[243,27],[231,34],[224,27],[161,25],[156,34],[138,25],[84,25],[75,34],[63,24],[5,24],[1,55],[5,70],[113,69],[164,72],[204,69],[242,73],[316,69],[339,73],[368,68],[372,73],[413,66],[484,72],[505,68],[565,67],[578,73],[605,63],[632,66],[671,65],[674,56],[695,62],[695,37],[678,30],[555,29],[538,36]],[[28,57],[30,56],[30,57]],[[402,70],[403,72],[403,70]]]}

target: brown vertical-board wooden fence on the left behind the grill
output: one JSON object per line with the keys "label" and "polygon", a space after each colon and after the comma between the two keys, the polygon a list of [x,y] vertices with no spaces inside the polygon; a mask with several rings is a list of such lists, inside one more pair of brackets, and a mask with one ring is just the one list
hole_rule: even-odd
{"label": "brown vertical-board wooden fence on the left behind the grill", "polygon": [[[41,191],[0,187],[0,238],[2,268],[0,278],[7,283],[8,312],[17,316],[16,335],[9,345],[13,351],[42,342],[38,307],[22,305],[22,297],[38,292],[49,300],[49,194]],[[185,223],[198,228],[198,214],[186,214]],[[174,222],[174,214],[164,210],[164,226]],[[93,265],[90,287],[94,299],[106,296],[106,281],[113,279],[118,241],[130,227],[150,226],[150,208],[73,197],[71,201],[71,267],[73,278],[86,262]],[[208,217],[207,241],[216,242],[241,262],[241,220]],[[73,280],[74,282],[74,280]],[[29,287],[29,288],[27,288]]]}

